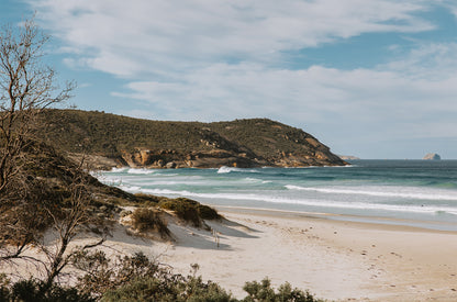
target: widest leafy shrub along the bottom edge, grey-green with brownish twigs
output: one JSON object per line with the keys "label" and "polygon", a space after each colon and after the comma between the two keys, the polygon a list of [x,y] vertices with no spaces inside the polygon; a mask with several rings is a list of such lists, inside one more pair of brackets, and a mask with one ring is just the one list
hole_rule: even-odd
{"label": "widest leafy shrub along the bottom edge, grey-green with brownish twigs", "polygon": [[74,260],[86,272],[79,292],[101,301],[235,301],[216,283],[175,275],[142,253],[109,259],[103,251],[82,251]]}

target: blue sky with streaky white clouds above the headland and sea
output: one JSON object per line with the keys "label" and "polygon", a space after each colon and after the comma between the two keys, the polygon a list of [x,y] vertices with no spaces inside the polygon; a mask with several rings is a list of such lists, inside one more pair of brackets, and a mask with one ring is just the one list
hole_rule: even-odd
{"label": "blue sky with streaky white clouds above the headland and sea", "polygon": [[52,36],[71,103],[149,120],[268,118],[338,155],[457,159],[455,0],[1,0]]}

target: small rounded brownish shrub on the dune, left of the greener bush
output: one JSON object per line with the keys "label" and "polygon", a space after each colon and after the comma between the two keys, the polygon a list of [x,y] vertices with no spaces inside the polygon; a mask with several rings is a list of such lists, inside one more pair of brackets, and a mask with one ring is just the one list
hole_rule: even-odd
{"label": "small rounded brownish shrub on the dune, left of the greener bush", "polygon": [[132,226],[140,232],[157,231],[161,238],[171,236],[167,224],[156,210],[140,208],[132,213]]}

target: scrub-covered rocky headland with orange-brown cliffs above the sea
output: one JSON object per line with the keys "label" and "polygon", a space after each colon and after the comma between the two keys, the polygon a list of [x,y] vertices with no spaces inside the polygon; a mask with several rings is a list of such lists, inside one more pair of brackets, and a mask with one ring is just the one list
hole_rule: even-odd
{"label": "scrub-covered rocky headland with orange-brown cliffs above the sea", "polygon": [[312,135],[267,119],[164,122],[77,110],[49,110],[45,119],[46,143],[86,153],[98,168],[346,165]]}

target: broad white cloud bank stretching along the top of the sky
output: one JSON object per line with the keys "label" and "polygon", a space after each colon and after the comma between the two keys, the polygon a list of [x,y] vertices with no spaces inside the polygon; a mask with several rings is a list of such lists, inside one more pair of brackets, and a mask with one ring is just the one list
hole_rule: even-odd
{"label": "broad white cloud bank stretching along the top of the sky", "polygon": [[[372,32],[434,29],[422,1],[36,0],[79,63],[119,77],[176,77],[213,63],[281,60],[286,51]],[[423,3],[423,2],[422,2]]]}

